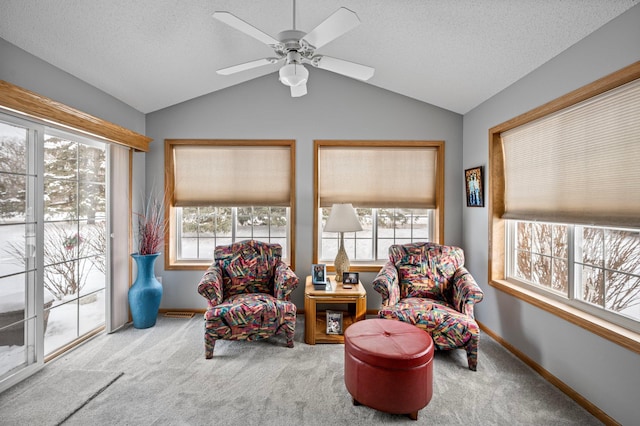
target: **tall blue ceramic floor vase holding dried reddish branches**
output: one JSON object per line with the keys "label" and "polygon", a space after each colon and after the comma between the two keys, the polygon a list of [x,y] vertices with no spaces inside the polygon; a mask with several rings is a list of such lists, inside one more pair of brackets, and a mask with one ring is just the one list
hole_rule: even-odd
{"label": "tall blue ceramic floor vase holding dried reddish branches", "polygon": [[162,284],[156,279],[154,265],[160,253],[132,254],[138,267],[138,275],[129,288],[129,309],[135,328],[149,328],[156,325],[160,300],[162,300]]}

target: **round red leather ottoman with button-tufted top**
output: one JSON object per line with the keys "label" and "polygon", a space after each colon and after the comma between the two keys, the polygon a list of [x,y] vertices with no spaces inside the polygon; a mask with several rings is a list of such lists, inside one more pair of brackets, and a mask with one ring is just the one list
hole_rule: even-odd
{"label": "round red leather ottoman with button-tufted top", "polygon": [[344,333],[344,382],[354,405],[418,419],[433,394],[433,340],[411,324],[369,319]]}

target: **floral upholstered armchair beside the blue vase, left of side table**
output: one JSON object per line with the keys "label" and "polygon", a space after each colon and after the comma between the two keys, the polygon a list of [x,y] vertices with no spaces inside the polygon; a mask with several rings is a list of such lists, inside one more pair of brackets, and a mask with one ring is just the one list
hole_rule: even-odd
{"label": "floral upholstered armchair beside the blue vase, left of side table", "polygon": [[198,284],[208,301],[204,314],[205,357],[216,340],[257,340],[284,334],[293,347],[298,277],[282,260],[282,247],[255,240],[218,246]]}

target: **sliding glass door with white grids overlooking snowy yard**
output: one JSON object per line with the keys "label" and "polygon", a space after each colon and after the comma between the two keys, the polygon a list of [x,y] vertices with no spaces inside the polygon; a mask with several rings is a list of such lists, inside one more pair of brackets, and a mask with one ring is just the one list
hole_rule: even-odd
{"label": "sliding glass door with white grids overlooking snowy yard", "polygon": [[105,324],[107,153],[0,114],[0,390]]}

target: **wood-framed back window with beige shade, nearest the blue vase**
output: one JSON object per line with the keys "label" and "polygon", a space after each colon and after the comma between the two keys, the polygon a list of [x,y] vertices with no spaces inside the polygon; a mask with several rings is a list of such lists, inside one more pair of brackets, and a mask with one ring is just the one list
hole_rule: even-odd
{"label": "wood-framed back window with beige shade, nearest the blue vase", "polygon": [[172,139],[165,154],[166,269],[201,269],[246,239],[280,244],[293,263],[294,141]]}

